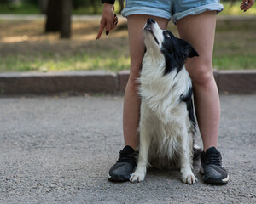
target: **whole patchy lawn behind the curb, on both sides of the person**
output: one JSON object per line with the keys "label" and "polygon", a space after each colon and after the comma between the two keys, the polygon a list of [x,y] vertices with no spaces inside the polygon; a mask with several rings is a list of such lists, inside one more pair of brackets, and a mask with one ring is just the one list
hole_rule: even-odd
{"label": "whole patchy lawn behind the curb, on both sides of the person", "polygon": [[[108,37],[103,34],[102,39],[96,41],[98,23],[75,21],[73,39],[61,41],[56,34],[44,35],[44,21],[2,20],[0,72],[128,70],[130,58],[125,22],[120,22]],[[177,36],[177,27],[169,28]],[[213,67],[218,70],[256,69],[255,33],[254,19],[218,20]],[[28,40],[23,41],[22,37]]]}

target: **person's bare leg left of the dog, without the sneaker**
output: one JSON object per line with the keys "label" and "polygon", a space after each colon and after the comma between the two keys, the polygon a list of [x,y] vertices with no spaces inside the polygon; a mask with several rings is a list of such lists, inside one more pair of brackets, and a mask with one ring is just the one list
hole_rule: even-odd
{"label": "person's bare leg left of the dog, without the sneaker", "polygon": [[145,51],[143,26],[149,17],[154,18],[154,20],[158,22],[161,29],[166,29],[169,20],[141,14],[128,16],[131,70],[129,80],[125,88],[123,132],[125,145],[130,145],[133,149],[137,147],[138,142],[137,127],[140,110],[140,99],[137,94],[138,84],[136,80],[139,77],[143,61],[143,54]]}

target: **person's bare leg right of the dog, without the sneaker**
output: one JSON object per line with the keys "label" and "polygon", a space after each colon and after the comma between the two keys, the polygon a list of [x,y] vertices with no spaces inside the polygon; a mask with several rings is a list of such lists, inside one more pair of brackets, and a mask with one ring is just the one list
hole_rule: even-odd
{"label": "person's bare leg right of the dog, without the sneaker", "polygon": [[215,11],[207,11],[177,21],[180,37],[191,43],[200,55],[188,59],[186,68],[194,86],[195,112],[204,150],[217,147],[218,142],[220,105],[212,71],[216,15]]}

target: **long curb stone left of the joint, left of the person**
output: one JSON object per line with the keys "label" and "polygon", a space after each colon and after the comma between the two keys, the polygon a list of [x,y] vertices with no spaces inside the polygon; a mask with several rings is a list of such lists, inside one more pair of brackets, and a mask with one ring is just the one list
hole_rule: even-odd
{"label": "long curb stone left of the joint, left of the person", "polygon": [[115,93],[118,76],[110,71],[15,72],[0,74],[1,94]]}

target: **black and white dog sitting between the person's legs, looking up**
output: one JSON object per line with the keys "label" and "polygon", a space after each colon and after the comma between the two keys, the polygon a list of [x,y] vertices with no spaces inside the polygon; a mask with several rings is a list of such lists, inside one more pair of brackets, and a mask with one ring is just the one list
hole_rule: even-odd
{"label": "black and white dog sitting between the person's legs, looking up", "polygon": [[142,182],[147,165],[180,168],[182,181],[195,184],[193,145],[195,116],[192,84],[185,60],[198,56],[189,42],[161,30],[154,19],[143,29],[146,52],[139,94],[142,97],[137,169],[131,182]]}

